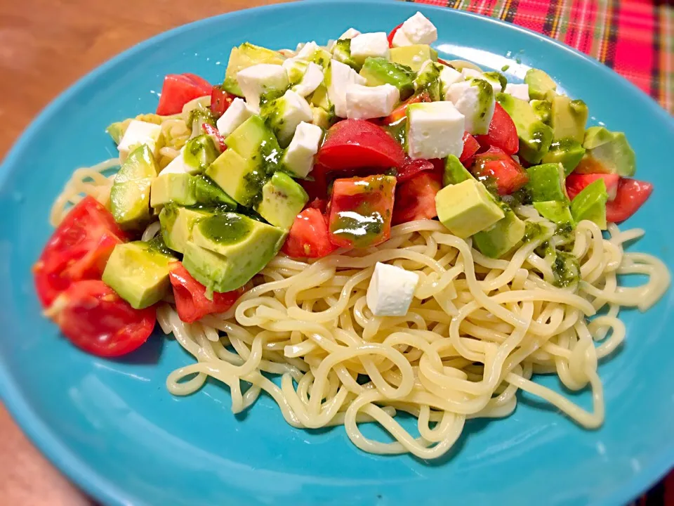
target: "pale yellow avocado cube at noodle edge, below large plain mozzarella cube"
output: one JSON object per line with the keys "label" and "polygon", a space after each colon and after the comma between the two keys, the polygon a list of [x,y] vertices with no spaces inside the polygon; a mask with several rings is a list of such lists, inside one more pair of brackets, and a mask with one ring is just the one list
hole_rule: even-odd
{"label": "pale yellow avocado cube at noodle edge, below large plain mozzarella cube", "polygon": [[489,228],[505,214],[487,188],[476,179],[445,186],[435,195],[440,222],[460,238]]}

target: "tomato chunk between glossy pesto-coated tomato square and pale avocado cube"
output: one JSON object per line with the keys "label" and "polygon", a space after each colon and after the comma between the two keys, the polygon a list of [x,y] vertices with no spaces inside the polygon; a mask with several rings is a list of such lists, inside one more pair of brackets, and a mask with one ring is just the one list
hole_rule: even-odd
{"label": "tomato chunk between glossy pesto-coated tomato square and pale avocado cube", "polygon": [[393,206],[394,225],[437,216],[435,195],[442,188],[442,176],[434,172],[422,172],[395,190]]}

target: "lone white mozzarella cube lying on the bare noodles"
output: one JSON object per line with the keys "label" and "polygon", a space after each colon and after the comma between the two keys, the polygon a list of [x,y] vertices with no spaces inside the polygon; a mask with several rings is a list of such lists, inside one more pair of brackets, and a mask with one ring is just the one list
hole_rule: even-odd
{"label": "lone white mozzarella cube lying on the bare noodles", "polygon": [[414,298],[419,275],[377,262],[365,301],[374,316],[405,316]]}

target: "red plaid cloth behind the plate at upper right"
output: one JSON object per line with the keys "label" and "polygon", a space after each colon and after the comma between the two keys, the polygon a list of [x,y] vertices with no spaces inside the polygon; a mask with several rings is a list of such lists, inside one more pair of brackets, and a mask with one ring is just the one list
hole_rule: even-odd
{"label": "red plaid cloth behind the plate at upper right", "polygon": [[488,15],[553,37],[608,65],[674,114],[672,0],[414,1]]}

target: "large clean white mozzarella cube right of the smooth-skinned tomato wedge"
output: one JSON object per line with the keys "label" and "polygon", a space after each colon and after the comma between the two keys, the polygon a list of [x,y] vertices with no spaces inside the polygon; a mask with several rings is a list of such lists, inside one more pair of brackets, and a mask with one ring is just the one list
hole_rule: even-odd
{"label": "large clean white mozzarella cube right of the smooth-skinned tomato wedge", "polygon": [[407,154],[411,158],[460,157],[465,118],[451,102],[407,106]]}

